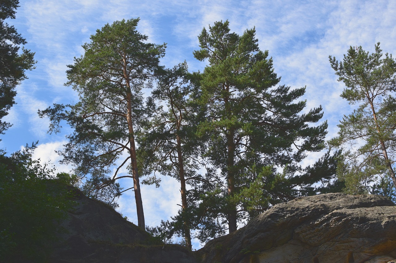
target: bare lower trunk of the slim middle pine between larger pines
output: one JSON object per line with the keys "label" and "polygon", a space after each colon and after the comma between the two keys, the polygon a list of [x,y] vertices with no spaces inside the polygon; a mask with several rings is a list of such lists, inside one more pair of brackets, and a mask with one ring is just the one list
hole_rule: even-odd
{"label": "bare lower trunk of the slim middle pine between larger pines", "polygon": [[184,164],[183,155],[181,152],[181,139],[179,134],[176,134],[177,141],[177,160],[179,162],[179,176],[180,176],[180,193],[181,193],[181,209],[183,214],[183,227],[184,227],[184,238],[186,240],[186,247],[192,250],[190,224],[187,218],[187,192],[186,192],[186,179],[184,175]]}

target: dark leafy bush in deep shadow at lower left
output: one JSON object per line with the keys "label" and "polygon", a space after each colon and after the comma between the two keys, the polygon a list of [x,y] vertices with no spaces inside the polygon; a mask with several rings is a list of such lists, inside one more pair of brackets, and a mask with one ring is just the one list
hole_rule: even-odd
{"label": "dark leafy bush in deep shadow at lower left", "polygon": [[46,262],[72,206],[72,188],[65,184],[71,180],[32,160],[34,148],[0,154],[1,262]]}

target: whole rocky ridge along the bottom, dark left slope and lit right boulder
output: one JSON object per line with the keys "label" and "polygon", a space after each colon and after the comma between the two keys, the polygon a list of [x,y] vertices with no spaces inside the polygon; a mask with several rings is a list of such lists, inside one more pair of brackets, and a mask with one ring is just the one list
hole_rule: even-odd
{"label": "whole rocky ridge along the bottom, dark left slope and lit right boulder", "polygon": [[[329,193],[276,205],[196,251],[164,245],[77,192],[49,262],[386,263],[396,258],[396,207],[377,195]],[[396,261],[392,261],[396,262]]]}

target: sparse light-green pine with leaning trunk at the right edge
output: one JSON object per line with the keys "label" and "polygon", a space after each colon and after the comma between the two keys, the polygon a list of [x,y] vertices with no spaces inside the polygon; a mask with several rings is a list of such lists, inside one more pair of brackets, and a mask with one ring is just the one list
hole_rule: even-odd
{"label": "sparse light-green pine with leaning trunk at the right edge", "polygon": [[[394,187],[388,189],[386,182],[390,178],[396,186],[396,61],[381,52],[377,43],[371,54],[361,46],[350,47],[342,62],[329,56],[338,81],[346,86],[341,97],[357,105],[344,115],[329,145],[344,149],[338,175],[345,192],[372,191],[394,199]],[[379,183],[371,188],[375,181]]]}

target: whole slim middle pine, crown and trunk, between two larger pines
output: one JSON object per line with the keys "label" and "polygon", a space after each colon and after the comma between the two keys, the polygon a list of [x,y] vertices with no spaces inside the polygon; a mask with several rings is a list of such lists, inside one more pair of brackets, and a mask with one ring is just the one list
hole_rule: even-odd
{"label": "whole slim middle pine, crown and trunk, between two larger pines", "polygon": [[188,80],[192,77],[185,62],[162,72],[157,87],[148,98],[148,112],[152,113],[152,120],[139,136],[138,150],[142,170],[147,175],[154,171],[149,182],[158,185],[159,178],[155,177],[155,172],[179,180],[182,209],[173,222],[167,222],[166,227],[173,227],[169,231],[184,236],[185,245],[190,250],[194,215],[190,212],[192,202],[187,199],[186,184],[196,186],[203,180],[197,173],[203,143],[202,138],[196,136],[202,115],[191,99],[196,92]]}

